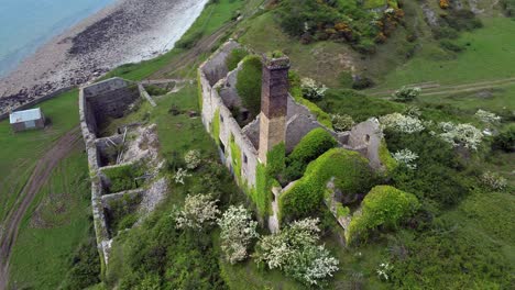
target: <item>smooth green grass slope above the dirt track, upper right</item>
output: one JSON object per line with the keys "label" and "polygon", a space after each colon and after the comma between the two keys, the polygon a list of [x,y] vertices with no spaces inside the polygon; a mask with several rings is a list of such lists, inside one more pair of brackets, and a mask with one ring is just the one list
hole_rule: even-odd
{"label": "smooth green grass slope above the dirt track, upper right", "polygon": [[[377,90],[403,85],[437,81],[460,85],[515,76],[515,25],[507,18],[483,19],[484,27],[463,33],[457,42],[470,44],[467,49],[448,58],[435,43],[423,48],[405,65],[384,76]],[[375,90],[375,89],[374,89]]]}

